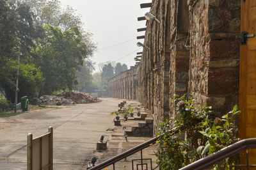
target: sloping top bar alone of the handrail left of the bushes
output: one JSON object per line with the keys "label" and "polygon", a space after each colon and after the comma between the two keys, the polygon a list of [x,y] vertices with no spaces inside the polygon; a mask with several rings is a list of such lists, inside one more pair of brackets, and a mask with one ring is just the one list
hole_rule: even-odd
{"label": "sloping top bar alone of the handrail left of the bushes", "polygon": [[118,162],[119,160],[122,160],[123,158],[129,157],[130,155],[132,155],[132,154],[134,154],[134,153],[136,153],[138,151],[141,151],[141,150],[143,150],[145,148],[148,148],[152,144],[155,144],[157,139],[158,139],[158,137],[159,136],[154,137],[154,138],[146,141],[145,143],[141,143],[141,144],[135,146],[134,148],[131,148],[130,150],[127,150],[127,151],[125,151],[123,153],[120,153],[119,155],[116,155],[113,158],[109,158],[108,160],[100,163],[99,165],[90,168],[90,170],[97,170],[97,169],[102,169],[104,167],[111,166],[112,164],[115,164],[115,162]]}

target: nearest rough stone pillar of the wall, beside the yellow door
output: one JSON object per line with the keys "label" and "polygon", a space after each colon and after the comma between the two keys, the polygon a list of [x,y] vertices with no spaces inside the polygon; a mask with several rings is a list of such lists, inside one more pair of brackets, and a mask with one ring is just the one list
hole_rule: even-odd
{"label": "nearest rough stone pillar of the wall, beside the yellow door", "polygon": [[191,97],[225,113],[238,103],[239,0],[189,1]]}

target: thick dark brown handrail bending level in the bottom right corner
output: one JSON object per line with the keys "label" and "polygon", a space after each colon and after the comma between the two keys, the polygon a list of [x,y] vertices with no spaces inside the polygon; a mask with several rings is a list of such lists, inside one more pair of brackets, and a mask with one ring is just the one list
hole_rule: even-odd
{"label": "thick dark brown handrail bending level in the bottom right corner", "polygon": [[200,160],[197,160],[196,162],[193,162],[186,167],[182,167],[180,170],[204,169],[220,162],[225,158],[236,155],[243,150],[252,148],[256,148],[256,138],[244,139],[242,141],[238,141],[237,143],[231,144],[230,146],[227,146],[227,148],[223,148],[216,153],[212,153],[207,157],[201,158]]}

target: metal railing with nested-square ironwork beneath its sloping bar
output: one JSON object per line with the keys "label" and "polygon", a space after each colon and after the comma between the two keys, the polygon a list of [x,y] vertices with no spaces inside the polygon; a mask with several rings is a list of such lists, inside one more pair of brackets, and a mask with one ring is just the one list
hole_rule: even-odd
{"label": "metal railing with nested-square ironwork beneath its sloping bar", "polygon": [[[148,158],[143,158],[143,152],[142,150],[145,148],[148,148],[149,146],[151,146],[152,144],[155,144],[157,141],[158,137],[154,137],[152,139],[150,139],[149,141],[139,144],[138,146],[135,146],[134,148],[131,148],[130,150],[127,150],[123,153],[120,153],[119,155],[116,155],[113,158],[110,158],[109,160],[106,160],[104,162],[102,162],[101,164],[94,166],[92,168],[90,168],[90,170],[96,170],[96,169],[102,169],[104,167],[108,167],[113,165],[113,169],[115,170],[115,163],[129,157],[130,155],[137,153],[138,151],[140,151],[140,159],[136,159],[136,160],[140,160],[140,164],[137,164],[137,169],[138,166],[141,166],[141,169],[143,169],[143,165],[145,165],[145,163],[143,163],[143,160],[148,160]],[[132,170],[134,169],[133,167],[133,162],[134,160],[132,160]],[[152,160],[150,159],[150,166],[152,169]]]}

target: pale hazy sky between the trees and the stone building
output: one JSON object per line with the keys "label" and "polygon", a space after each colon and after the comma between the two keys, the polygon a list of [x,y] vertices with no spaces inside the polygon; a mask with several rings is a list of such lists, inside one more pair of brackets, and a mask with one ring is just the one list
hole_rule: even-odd
{"label": "pale hazy sky between the trees and the stone building", "polygon": [[[84,29],[93,33],[93,42],[97,43],[98,52],[93,56],[96,71],[99,63],[116,61],[125,63],[128,68],[135,64],[136,52],[142,48],[136,43],[136,36],[145,35],[137,28],[145,27],[145,21],[138,21],[150,8],[140,8],[141,3],[150,0],[60,0],[64,6],[72,6],[81,15]],[[126,43],[123,43],[126,42]],[[143,43],[143,39],[140,40]],[[121,45],[110,47],[122,43]],[[134,52],[137,50],[136,52]],[[130,54],[130,55],[129,55]],[[129,56],[128,56],[129,55]]]}

